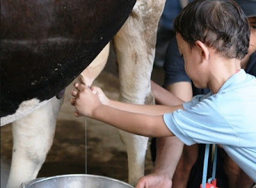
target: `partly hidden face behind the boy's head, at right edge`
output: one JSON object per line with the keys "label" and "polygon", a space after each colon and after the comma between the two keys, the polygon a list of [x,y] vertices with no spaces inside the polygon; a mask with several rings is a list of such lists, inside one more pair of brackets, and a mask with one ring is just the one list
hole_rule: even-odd
{"label": "partly hidden face behind the boy's head, at right edge", "polygon": [[250,23],[250,47],[248,49],[248,54],[242,59],[241,67],[246,67],[246,64],[249,61],[250,55],[256,51],[256,17],[248,18]]}

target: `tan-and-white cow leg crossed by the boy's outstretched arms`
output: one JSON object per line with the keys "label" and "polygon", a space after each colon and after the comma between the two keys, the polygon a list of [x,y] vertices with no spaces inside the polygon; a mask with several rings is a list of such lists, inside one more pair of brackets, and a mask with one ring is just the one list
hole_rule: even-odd
{"label": "tan-and-white cow leg crossed by the boy's outstretched arms", "polygon": [[[157,24],[164,0],[138,0],[131,16],[114,38],[120,78],[120,100],[153,104],[150,77],[154,62]],[[148,138],[120,131],[127,146],[129,183],[144,175]]]}

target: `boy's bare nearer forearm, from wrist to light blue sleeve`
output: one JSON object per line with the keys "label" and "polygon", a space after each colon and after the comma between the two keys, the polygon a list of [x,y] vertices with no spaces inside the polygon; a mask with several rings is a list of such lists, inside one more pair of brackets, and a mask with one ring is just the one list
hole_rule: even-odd
{"label": "boy's bare nearer forearm, from wrist to light blue sleeve", "polygon": [[133,134],[148,137],[173,136],[161,115],[150,116],[100,105],[94,110],[92,118]]}

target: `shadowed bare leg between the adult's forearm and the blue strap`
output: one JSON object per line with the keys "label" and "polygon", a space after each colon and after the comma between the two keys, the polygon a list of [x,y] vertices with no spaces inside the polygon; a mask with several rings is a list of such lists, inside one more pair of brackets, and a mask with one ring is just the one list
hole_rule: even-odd
{"label": "shadowed bare leg between the adult's forearm and the blue strap", "polygon": [[184,145],[182,156],[173,175],[173,188],[186,188],[191,168],[198,156],[198,145]]}

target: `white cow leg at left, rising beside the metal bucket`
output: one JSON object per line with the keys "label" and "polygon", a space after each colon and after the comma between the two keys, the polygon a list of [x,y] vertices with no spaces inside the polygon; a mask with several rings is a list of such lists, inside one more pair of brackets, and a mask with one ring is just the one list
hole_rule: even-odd
{"label": "white cow leg at left, rising beside the metal bucket", "polygon": [[63,99],[52,98],[38,110],[13,122],[13,152],[7,188],[36,178],[54,138]]}

